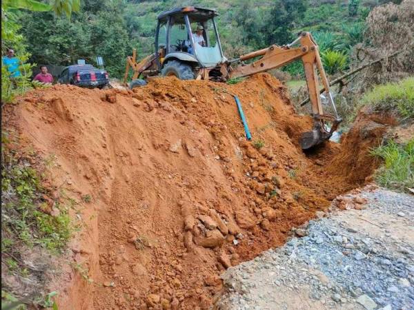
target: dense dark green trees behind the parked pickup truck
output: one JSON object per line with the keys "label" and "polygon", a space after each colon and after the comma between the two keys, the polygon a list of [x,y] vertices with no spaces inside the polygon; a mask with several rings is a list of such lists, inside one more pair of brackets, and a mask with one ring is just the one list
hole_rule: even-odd
{"label": "dense dark green trees behind the parked pickup truck", "polygon": [[[70,19],[51,13],[28,12],[22,32],[28,41],[31,61],[71,65],[77,59],[95,63],[102,56],[111,76],[124,72],[126,55],[132,52],[132,40],[124,20],[121,0],[82,2],[81,12]],[[91,11],[89,11],[91,10]],[[41,39],[39,39],[41,38]]]}

